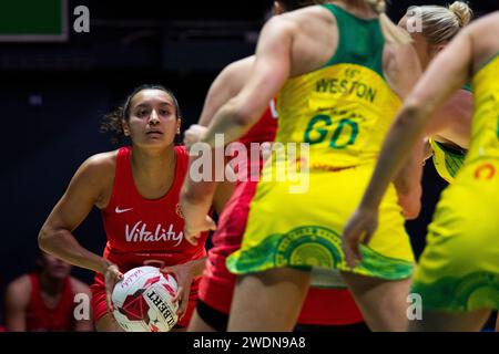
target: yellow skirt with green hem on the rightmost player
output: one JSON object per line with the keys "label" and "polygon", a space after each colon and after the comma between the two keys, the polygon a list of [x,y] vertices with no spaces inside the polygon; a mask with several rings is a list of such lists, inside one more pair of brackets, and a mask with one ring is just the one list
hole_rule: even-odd
{"label": "yellow skirt with green hem on the rightmost player", "polygon": [[499,162],[477,160],[442,194],[413,290],[427,310],[499,309]]}

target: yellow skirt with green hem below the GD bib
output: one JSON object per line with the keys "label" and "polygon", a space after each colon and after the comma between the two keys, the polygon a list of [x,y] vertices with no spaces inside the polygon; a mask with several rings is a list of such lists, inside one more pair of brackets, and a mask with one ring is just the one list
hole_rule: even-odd
{"label": "yellow skirt with green hem below the GD bib", "polygon": [[259,181],[242,248],[227,259],[227,268],[236,274],[291,267],[386,280],[409,278],[415,259],[393,186],[380,207],[378,230],[368,247],[361,247],[363,261],[355,269],[346,266],[342,232],[371,173],[369,165],[315,170],[295,181]]}

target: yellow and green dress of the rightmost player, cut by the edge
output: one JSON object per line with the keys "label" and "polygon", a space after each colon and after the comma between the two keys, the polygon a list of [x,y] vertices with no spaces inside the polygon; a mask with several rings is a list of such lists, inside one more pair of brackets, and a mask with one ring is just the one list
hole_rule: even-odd
{"label": "yellow and green dress of the rightmost player, cut by the edge", "polygon": [[470,148],[437,206],[413,284],[427,310],[499,309],[498,77],[499,54],[472,80]]}

